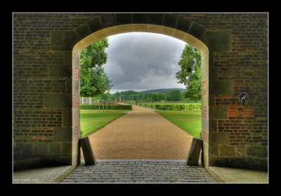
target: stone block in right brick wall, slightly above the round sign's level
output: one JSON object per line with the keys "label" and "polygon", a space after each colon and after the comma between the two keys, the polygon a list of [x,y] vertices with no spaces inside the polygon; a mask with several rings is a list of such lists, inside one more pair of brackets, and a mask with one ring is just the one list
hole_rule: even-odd
{"label": "stone block in right brick wall, slightly above the round sign's level", "polygon": [[209,93],[218,95],[233,95],[233,81],[213,80],[209,82]]}

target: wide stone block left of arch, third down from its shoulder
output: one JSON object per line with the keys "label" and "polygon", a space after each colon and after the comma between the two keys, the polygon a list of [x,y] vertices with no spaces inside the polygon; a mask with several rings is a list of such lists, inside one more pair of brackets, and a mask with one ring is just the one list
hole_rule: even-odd
{"label": "wide stone block left of arch, third down from its shoulder", "polygon": [[71,108],[72,94],[71,93],[45,93],[44,107],[46,108]]}

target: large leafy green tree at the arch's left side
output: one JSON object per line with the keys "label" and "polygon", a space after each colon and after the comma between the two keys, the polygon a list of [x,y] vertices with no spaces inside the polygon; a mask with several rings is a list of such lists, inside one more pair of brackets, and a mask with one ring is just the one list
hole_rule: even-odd
{"label": "large leafy green tree at the arch's left side", "polygon": [[80,95],[93,97],[107,93],[112,85],[104,67],[107,61],[105,48],[109,46],[108,39],[101,39],[81,52],[80,57]]}

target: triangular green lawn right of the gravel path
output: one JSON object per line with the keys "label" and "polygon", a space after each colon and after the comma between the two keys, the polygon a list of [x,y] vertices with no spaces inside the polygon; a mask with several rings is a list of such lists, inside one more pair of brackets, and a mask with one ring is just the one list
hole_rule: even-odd
{"label": "triangular green lawn right of the gravel path", "polygon": [[201,110],[155,110],[190,135],[201,138]]}

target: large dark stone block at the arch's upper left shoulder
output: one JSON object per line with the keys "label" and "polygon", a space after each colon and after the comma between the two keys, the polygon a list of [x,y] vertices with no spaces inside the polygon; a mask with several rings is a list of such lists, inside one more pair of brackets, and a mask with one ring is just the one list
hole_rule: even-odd
{"label": "large dark stone block at the arch's upper left shoulder", "polygon": [[80,40],[74,31],[51,32],[51,51],[72,51],[72,48]]}

